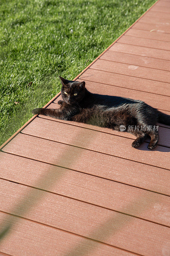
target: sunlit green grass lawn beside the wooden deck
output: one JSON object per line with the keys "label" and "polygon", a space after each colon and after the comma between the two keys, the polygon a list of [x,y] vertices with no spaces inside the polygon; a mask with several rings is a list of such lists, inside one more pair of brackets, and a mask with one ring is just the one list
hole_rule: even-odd
{"label": "sunlit green grass lawn beside the wooden deck", "polygon": [[0,0],[0,144],[154,2]]}

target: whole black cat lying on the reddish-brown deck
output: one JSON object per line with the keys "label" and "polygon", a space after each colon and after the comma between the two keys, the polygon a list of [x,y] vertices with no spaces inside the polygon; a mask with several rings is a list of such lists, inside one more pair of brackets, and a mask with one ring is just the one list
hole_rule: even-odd
{"label": "whole black cat lying on the reddish-brown deck", "polygon": [[137,148],[147,135],[151,137],[148,148],[156,147],[159,134],[157,122],[170,125],[170,116],[152,108],[141,100],[100,95],[89,92],[85,82],[69,81],[60,76],[62,82],[59,100],[60,109],[35,108],[33,114],[51,116],[85,124],[134,134],[137,139],[132,147]]}

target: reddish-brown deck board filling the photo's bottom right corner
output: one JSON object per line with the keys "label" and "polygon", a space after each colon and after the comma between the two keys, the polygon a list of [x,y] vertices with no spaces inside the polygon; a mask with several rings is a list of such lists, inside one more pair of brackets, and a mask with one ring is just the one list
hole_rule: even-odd
{"label": "reddish-brown deck board filling the photo's bottom right corner", "polygon": [[[11,209],[15,209],[15,200],[17,200],[18,195],[20,198],[26,198],[28,193],[36,193],[36,189],[34,188],[28,188],[14,183],[11,184],[9,181],[2,181],[1,188],[2,195],[4,195],[1,201],[2,209],[10,213],[15,213]],[[8,189],[7,193],[6,189]],[[126,250],[136,253],[142,252],[142,248],[139,249],[141,240],[144,241],[145,253],[148,254],[158,251],[158,245],[154,248],[155,243],[161,243],[163,247],[168,242],[165,234],[166,232],[170,232],[169,228],[45,191],[39,191],[39,197],[39,202],[36,203],[29,213],[20,213],[22,217],[81,236],[90,237],[109,245],[116,245],[122,249],[126,248]],[[5,199],[8,200],[8,205],[5,204]],[[139,199],[140,201],[141,199]],[[27,204],[29,205],[29,202]],[[47,209],[49,209],[51,204],[54,207],[54,211],[48,212]],[[68,204],[69,212],[67,212]],[[131,202],[128,204],[130,207]],[[137,208],[138,211],[141,211],[142,206],[138,205]],[[84,223],[86,223],[86,226],[82,229]],[[105,233],[108,226],[111,226],[110,232]],[[122,228],[122,231],[118,230],[118,226]],[[139,227],[143,228],[141,229]],[[149,230],[147,235],[145,234],[145,230]],[[155,236],[155,233],[157,236]],[[154,248],[154,250],[150,248]]]}

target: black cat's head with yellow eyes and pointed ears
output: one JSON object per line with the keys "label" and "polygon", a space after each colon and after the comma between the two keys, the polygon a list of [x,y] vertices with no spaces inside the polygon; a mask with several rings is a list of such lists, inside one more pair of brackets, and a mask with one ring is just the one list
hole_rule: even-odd
{"label": "black cat's head with yellow eyes and pointed ears", "polygon": [[60,76],[62,88],[61,95],[63,101],[68,104],[80,102],[85,96],[85,82],[69,81]]}

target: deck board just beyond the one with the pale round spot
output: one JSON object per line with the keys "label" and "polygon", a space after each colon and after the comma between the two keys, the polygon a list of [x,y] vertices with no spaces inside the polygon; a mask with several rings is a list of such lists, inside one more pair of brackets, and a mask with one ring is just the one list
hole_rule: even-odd
{"label": "deck board just beyond the one with the pale round spot", "polygon": [[125,64],[137,65],[140,67],[160,69],[170,71],[170,61],[150,58],[146,56],[133,55],[124,52],[107,51],[101,57],[101,60],[110,60]]}

